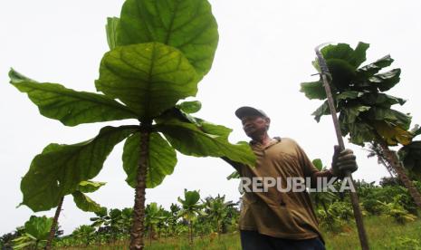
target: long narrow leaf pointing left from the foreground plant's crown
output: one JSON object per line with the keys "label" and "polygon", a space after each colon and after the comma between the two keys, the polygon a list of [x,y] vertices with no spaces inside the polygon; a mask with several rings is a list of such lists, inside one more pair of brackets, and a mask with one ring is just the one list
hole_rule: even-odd
{"label": "long narrow leaf pointing left from the foreground plant's crown", "polygon": [[73,91],[57,83],[34,82],[13,69],[9,76],[14,87],[26,92],[43,116],[67,126],[138,118],[134,111],[102,94]]}

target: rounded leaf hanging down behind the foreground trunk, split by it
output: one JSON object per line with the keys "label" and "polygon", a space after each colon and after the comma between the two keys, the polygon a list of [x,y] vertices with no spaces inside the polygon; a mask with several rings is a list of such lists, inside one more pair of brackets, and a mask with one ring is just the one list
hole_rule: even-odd
{"label": "rounded leaf hanging down behind the foreground trunk, split by it", "polygon": [[[140,133],[131,135],[124,144],[123,168],[130,187],[136,187],[139,166]],[[146,187],[157,187],[167,175],[173,173],[177,164],[176,150],[158,133],[151,133],[149,138],[148,170]]]}

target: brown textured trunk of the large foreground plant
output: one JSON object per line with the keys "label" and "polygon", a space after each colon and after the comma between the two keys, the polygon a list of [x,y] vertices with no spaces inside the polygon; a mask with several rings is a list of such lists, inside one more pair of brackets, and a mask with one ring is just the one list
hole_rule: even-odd
{"label": "brown textured trunk of the large foreground plant", "polygon": [[152,121],[140,124],[140,157],[135,191],[135,206],[133,207],[133,225],[130,232],[130,250],[144,248],[143,236],[145,232],[145,189],[148,169],[149,136]]}

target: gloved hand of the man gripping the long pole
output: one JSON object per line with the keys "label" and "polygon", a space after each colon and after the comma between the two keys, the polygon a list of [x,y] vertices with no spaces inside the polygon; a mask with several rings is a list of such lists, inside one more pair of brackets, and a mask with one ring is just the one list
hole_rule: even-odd
{"label": "gloved hand of the man gripping the long pole", "polygon": [[355,172],[359,168],[355,159],[356,157],[351,149],[340,151],[340,146],[336,145],[331,166],[333,176],[344,178],[347,171]]}

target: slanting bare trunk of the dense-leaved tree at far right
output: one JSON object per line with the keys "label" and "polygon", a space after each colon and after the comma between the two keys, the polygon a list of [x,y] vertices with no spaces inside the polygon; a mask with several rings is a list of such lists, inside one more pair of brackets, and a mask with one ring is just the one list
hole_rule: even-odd
{"label": "slanting bare trunk of the dense-leaved tree at far right", "polygon": [[383,149],[383,153],[388,159],[390,166],[392,166],[392,168],[397,172],[397,177],[404,183],[405,187],[407,187],[409,195],[411,195],[411,197],[414,199],[416,206],[421,209],[421,195],[412,183],[411,179],[407,177],[405,169],[402,167],[399,159],[397,159],[397,154],[394,151],[388,149],[388,144],[379,135],[378,142],[380,143],[380,146]]}

